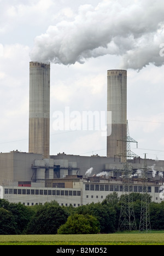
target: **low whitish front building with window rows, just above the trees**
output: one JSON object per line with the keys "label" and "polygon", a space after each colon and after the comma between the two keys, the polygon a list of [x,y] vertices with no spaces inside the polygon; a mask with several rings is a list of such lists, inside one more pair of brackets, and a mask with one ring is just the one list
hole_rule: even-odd
{"label": "low whitish front building with window rows, just above the trees", "polygon": [[[148,193],[152,196],[154,202],[161,202],[162,184],[159,181],[148,182]],[[121,180],[104,177],[68,176],[63,179],[49,179],[43,187],[40,184],[38,185],[39,187],[36,183],[19,182],[17,186],[0,186],[0,198],[10,202],[21,202],[27,206],[55,200],[61,206],[72,205],[78,207],[87,203],[102,202],[107,195],[114,191],[119,196],[125,191],[125,186]],[[142,193],[142,181],[133,181],[130,191]]]}

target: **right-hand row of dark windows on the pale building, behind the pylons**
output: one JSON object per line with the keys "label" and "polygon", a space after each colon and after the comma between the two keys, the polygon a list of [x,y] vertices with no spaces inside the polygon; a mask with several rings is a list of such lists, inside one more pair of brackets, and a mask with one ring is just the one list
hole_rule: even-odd
{"label": "right-hand row of dark windows on the pale building, behind the pylons", "polygon": [[[131,191],[143,192],[143,186],[126,186],[126,185],[98,185],[98,184],[85,184],[86,191]],[[151,193],[151,187],[148,187],[148,193]],[[155,193],[159,193],[159,187],[155,187]]]}

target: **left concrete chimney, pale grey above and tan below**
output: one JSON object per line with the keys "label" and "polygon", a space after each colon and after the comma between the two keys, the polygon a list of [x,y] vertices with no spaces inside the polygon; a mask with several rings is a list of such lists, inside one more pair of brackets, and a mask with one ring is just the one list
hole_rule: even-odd
{"label": "left concrete chimney, pale grey above and tan below", "polygon": [[49,158],[50,64],[30,62],[29,153]]}

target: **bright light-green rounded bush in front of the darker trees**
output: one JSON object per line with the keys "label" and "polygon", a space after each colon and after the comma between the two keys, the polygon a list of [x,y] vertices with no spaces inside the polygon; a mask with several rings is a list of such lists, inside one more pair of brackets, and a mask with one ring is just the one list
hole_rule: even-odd
{"label": "bright light-green rounded bush in front of the darker trees", "polygon": [[91,215],[73,214],[68,217],[66,224],[62,225],[57,234],[97,234],[99,222]]}

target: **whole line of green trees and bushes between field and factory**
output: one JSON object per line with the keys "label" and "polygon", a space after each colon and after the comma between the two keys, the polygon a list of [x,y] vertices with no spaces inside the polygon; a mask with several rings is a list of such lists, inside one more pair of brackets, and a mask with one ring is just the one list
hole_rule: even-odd
{"label": "whole line of green trees and bushes between field and factory", "polygon": [[[124,196],[124,195],[122,195]],[[140,222],[140,193],[133,193],[137,228]],[[151,229],[164,230],[164,202],[151,202]],[[25,206],[0,200],[0,235],[21,234],[97,234],[118,230],[121,197],[114,192],[103,202],[79,206],[59,206],[56,201]]]}

